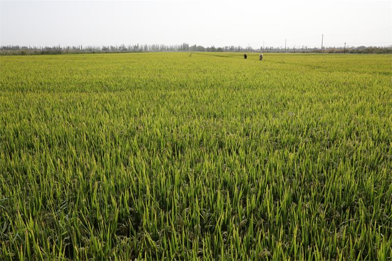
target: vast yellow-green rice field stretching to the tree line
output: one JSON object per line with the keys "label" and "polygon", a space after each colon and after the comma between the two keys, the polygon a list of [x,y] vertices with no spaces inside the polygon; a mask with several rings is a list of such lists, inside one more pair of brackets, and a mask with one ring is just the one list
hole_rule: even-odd
{"label": "vast yellow-green rice field stretching to the tree line", "polygon": [[392,259],[392,55],[0,57],[0,260]]}

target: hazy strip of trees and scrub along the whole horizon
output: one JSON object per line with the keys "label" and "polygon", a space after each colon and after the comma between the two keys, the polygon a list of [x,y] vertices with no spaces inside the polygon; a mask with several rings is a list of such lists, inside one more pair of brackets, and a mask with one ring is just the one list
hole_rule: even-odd
{"label": "hazy strip of trees and scrub along the whole horizon", "polygon": [[106,53],[106,52],[155,52],[155,51],[217,51],[217,52],[299,52],[299,53],[392,53],[392,47],[252,47],[224,46],[203,47],[180,45],[120,45],[120,46],[1,46],[0,55],[34,55],[34,54],[67,54],[67,53]]}

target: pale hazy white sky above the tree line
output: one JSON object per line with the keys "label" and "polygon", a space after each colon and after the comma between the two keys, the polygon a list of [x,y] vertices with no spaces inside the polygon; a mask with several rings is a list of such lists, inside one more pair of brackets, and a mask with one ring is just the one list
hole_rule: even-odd
{"label": "pale hazy white sky above the tree line", "polygon": [[0,45],[392,45],[392,0],[0,0]]}

